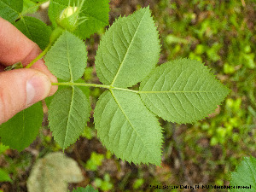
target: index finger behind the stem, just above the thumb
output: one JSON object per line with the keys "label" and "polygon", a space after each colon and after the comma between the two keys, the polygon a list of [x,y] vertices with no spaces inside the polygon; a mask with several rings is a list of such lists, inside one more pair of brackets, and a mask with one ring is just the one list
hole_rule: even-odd
{"label": "index finger behind the stem, just above the thumb", "polygon": [[[26,36],[9,23],[9,21],[3,20],[3,18],[0,17],[0,63],[9,66],[16,62],[21,62],[23,66],[26,66],[41,52],[42,50],[37,44],[32,42],[29,38],[26,38]],[[37,61],[32,68],[36,68],[48,75],[51,82],[57,82],[57,79],[49,72],[42,59]],[[3,71],[3,67],[0,67],[0,70]],[[52,86],[49,96],[53,95],[57,89],[57,86]]]}

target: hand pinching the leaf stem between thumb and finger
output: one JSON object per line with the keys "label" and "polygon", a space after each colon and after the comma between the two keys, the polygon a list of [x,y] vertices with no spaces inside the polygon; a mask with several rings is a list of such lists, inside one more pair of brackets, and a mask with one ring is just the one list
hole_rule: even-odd
{"label": "hand pinching the leaf stem between thumb and finger", "polygon": [[4,71],[19,61],[26,66],[41,52],[37,44],[0,17],[0,125],[57,90],[57,86],[51,85],[57,79],[43,59],[31,68]]}

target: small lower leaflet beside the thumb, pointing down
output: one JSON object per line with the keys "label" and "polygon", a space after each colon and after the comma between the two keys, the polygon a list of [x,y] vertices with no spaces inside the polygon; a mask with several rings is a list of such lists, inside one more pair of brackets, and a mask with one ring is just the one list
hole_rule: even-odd
{"label": "small lower leaflet beside the thumb, pointing down", "polygon": [[59,90],[49,105],[49,128],[61,148],[73,144],[90,117],[90,102],[78,87]]}

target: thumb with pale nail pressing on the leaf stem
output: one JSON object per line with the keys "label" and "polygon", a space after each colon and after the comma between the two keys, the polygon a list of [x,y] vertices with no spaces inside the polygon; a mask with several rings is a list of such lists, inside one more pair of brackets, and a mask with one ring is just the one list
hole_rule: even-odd
{"label": "thumb with pale nail pressing on the leaf stem", "polygon": [[36,69],[0,73],[0,125],[23,109],[49,96],[49,78]]}

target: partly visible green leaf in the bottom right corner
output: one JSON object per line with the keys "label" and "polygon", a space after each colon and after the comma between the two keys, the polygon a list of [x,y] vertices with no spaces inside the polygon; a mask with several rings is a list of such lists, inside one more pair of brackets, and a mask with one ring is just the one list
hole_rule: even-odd
{"label": "partly visible green leaf in the bottom right corner", "polygon": [[236,172],[231,172],[230,186],[251,186],[251,189],[230,189],[230,192],[256,191],[256,158],[245,157]]}

